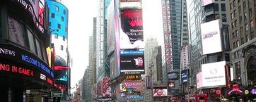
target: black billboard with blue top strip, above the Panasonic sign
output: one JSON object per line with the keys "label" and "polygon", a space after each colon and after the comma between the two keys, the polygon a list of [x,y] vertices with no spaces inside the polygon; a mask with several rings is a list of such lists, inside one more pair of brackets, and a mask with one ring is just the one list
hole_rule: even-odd
{"label": "black billboard with blue top strip, above the Panasonic sign", "polygon": [[120,51],[120,69],[122,73],[144,73],[144,51]]}

